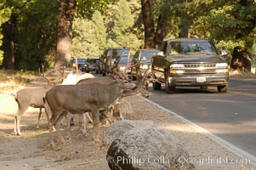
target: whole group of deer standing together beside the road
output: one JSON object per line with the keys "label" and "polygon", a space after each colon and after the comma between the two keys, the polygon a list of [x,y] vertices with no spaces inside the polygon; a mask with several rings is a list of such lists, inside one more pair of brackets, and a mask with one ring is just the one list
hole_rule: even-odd
{"label": "whole group of deer standing together beside the road", "polygon": [[[57,85],[58,81],[49,81],[48,84],[41,88],[24,88],[14,94],[18,103],[19,110],[14,116],[14,134],[20,133],[20,118],[31,106],[40,108],[37,120],[37,128],[39,120],[44,108],[48,118],[48,128],[51,144],[54,145],[54,137],[52,131],[54,126],[68,114],[84,114],[90,113],[93,121],[92,134],[95,142],[100,140],[100,116],[107,116],[108,108],[115,104],[118,100],[126,96],[142,94],[148,97],[147,86],[149,79],[145,76],[141,82],[131,82],[128,77],[117,71],[110,74],[109,77],[94,77],[86,73],[82,77],[75,78],[71,82],[63,81]],[[73,76],[73,77],[74,77]],[[83,116],[85,117],[85,116]],[[85,124],[85,122],[84,122]]]}

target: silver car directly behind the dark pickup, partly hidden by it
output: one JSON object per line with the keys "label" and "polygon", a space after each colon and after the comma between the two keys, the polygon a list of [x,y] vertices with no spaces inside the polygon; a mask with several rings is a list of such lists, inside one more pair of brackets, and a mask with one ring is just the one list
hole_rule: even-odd
{"label": "silver car directly behind the dark pickup, partly hidden by it", "polygon": [[151,58],[158,52],[157,49],[139,49],[134,54],[131,68],[131,77],[133,80],[140,76],[144,76],[147,69],[151,68]]}

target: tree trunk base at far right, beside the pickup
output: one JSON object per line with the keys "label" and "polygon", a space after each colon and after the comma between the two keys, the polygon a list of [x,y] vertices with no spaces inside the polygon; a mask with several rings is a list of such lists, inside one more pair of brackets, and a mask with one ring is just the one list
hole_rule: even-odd
{"label": "tree trunk base at far right, beside the pickup", "polygon": [[234,48],[230,68],[233,71],[250,72],[252,56],[246,48],[237,46]]}

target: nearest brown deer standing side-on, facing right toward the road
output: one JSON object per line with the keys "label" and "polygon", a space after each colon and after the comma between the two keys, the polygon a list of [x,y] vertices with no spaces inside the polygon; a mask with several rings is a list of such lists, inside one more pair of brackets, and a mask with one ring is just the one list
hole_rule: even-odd
{"label": "nearest brown deer standing side-on, facing right toward the road", "polygon": [[[72,114],[91,112],[94,122],[94,140],[99,141],[100,114],[104,115],[103,112],[107,111],[108,106],[115,103],[117,99],[143,92],[139,89],[143,88],[142,85],[139,84],[139,87],[136,87],[133,82],[125,83],[119,78],[109,80],[110,83],[107,84],[100,83],[100,78],[87,81],[91,81],[91,83],[55,86],[45,94],[45,109],[52,115],[49,120],[51,144],[54,145],[52,136],[54,124],[68,112]],[[143,89],[145,90],[145,88]]]}

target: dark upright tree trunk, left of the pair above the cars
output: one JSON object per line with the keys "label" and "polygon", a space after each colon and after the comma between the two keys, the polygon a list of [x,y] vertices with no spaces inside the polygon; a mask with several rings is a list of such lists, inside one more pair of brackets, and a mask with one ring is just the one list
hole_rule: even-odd
{"label": "dark upright tree trunk, left of the pair above the cars", "polygon": [[151,1],[141,0],[142,18],[145,30],[144,48],[155,48],[154,20],[151,14]]}

